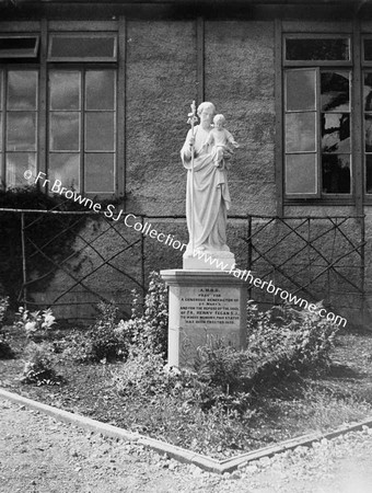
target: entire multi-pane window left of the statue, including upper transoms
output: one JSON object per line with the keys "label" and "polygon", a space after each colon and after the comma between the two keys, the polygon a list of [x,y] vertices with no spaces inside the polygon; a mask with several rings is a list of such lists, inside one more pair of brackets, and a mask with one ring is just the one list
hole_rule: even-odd
{"label": "entire multi-pane window left of the statue, including upper transoms", "polygon": [[[50,33],[45,38],[44,67],[37,58],[42,42],[39,36],[0,36],[1,184],[23,186],[24,171],[35,175],[45,162],[51,183],[59,180],[80,193],[112,195],[117,163],[117,35]],[[24,65],[14,65],[20,59]],[[46,93],[39,94],[44,87]]]}

